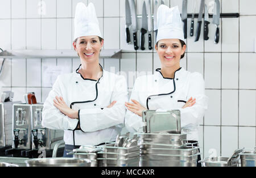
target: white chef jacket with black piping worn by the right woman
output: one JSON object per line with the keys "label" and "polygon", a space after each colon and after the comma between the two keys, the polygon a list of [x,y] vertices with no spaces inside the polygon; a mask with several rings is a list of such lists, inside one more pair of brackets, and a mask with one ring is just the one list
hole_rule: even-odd
{"label": "white chef jacket with black piping worn by the right woman", "polygon": [[[192,107],[182,108],[189,98],[196,98]],[[190,73],[181,68],[175,71],[174,78],[164,78],[160,69],[153,75],[144,75],[135,80],[131,99],[137,100],[144,108],[179,109],[181,133],[187,139],[198,141],[198,128],[208,98],[205,96],[204,79],[200,73]],[[138,132],[143,125],[142,117],[127,110],[125,126],[130,132]]]}

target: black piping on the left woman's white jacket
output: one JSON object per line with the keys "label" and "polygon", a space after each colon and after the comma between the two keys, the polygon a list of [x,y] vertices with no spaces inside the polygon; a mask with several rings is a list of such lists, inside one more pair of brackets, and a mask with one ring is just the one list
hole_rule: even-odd
{"label": "black piping on the left woman's white jacket", "polygon": [[[100,63],[99,63],[99,65],[100,65]],[[80,64],[80,66],[81,66],[81,64]],[[80,66],[79,66],[78,69],[76,70],[76,73],[77,73],[77,74],[80,74],[80,73],[78,72]],[[101,66],[101,65],[100,65],[100,66]],[[98,82],[100,82],[100,79],[102,78],[103,73],[104,73],[102,66],[101,66],[101,69],[102,69],[102,75],[101,75],[101,77],[100,77],[98,80],[87,79],[87,78],[82,77],[82,75],[80,74],[81,78],[84,79],[84,80],[97,81],[97,83],[95,84],[95,88],[96,88],[96,98],[95,98],[94,100],[75,101],[75,102],[72,102],[72,103],[70,104],[70,107],[69,107],[69,108],[72,109],[72,105],[74,105],[74,104],[77,104],[77,103],[90,103],[90,102],[95,101],[95,100],[98,98],[98,86],[97,86],[97,84],[98,84]],[[78,116],[79,116],[79,118],[78,118],[79,121],[77,122],[77,126],[80,125],[80,109],[79,109],[79,111],[78,111]],[[75,146],[75,130],[81,130],[82,132],[84,132],[84,131],[81,129],[81,126],[80,126],[80,129],[77,129],[77,126],[76,126],[76,128],[73,130],[73,145],[74,145],[74,146]],[[84,133],[86,133],[86,132],[84,132]]]}

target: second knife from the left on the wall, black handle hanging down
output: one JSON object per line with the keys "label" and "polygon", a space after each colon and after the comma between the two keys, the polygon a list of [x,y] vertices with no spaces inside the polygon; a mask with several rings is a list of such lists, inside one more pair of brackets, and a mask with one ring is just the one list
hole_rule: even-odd
{"label": "second knife from the left on the wall, black handle hanging down", "polygon": [[131,24],[133,26],[133,44],[134,44],[134,49],[138,50],[138,42],[137,42],[137,12],[136,12],[136,6],[134,0],[130,0],[130,9],[131,9]]}

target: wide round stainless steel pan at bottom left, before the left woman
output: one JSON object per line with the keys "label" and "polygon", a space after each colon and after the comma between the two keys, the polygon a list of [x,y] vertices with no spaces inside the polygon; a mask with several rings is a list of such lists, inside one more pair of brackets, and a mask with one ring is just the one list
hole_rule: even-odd
{"label": "wide round stainless steel pan at bottom left, before the left woman", "polygon": [[27,167],[88,167],[89,159],[39,158],[25,161]]}

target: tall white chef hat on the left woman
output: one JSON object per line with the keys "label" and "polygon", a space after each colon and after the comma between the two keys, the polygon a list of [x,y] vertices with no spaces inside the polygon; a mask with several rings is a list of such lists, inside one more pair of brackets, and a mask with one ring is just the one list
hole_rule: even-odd
{"label": "tall white chef hat on the left woman", "polygon": [[99,36],[102,38],[93,3],[89,3],[88,7],[82,2],[77,3],[74,21],[74,41],[81,36]]}

